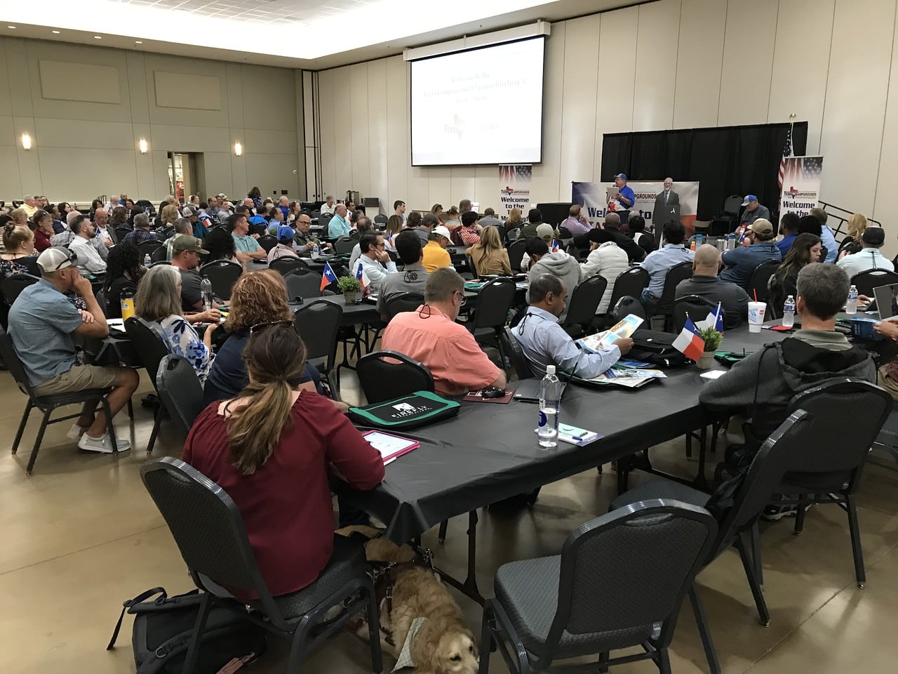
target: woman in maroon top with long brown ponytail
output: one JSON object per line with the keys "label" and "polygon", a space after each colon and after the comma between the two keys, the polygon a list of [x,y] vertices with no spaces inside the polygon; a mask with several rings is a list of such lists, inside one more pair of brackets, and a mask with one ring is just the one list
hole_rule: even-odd
{"label": "woman in maroon top with long brown ponytail", "polygon": [[333,552],[329,467],[356,489],[383,480],[383,459],[330,400],[300,390],[305,346],[292,322],[255,325],[243,351],[250,384],[210,404],[183,459],[240,510],[273,595],[311,584]]}

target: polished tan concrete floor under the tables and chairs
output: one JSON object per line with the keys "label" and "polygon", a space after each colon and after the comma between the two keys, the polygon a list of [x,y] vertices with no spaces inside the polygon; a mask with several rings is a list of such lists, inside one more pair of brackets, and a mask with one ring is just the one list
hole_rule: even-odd
{"label": "polished tan concrete floor under the tables and chairs", "polygon": [[[145,376],[135,400],[152,389]],[[358,397],[352,373],[343,377],[348,402]],[[78,451],[66,439],[69,422],[51,426],[44,438],[35,473],[25,463],[37,429],[32,414],[17,456],[9,454],[24,396],[7,373],[0,373],[0,670],[4,672],[134,671],[130,619],[126,616],[119,647],[104,650],[119,616],[121,602],[157,585],[169,594],[191,589],[163,519],[146,494],[138,474],[147,459],[152,427],[150,411],[136,404],[130,423],[119,414],[119,434],[135,450],[119,460]],[[601,414],[601,412],[600,412]],[[164,425],[154,456],[180,456],[182,439]],[[657,448],[656,464],[682,474],[694,472],[682,443]],[[650,479],[634,474],[632,483]],[[791,533],[793,520],[762,527],[765,592],[772,624],[758,624],[737,554],[726,552],[700,574],[700,593],[709,616],[718,654],[727,674],[814,672],[870,674],[894,672],[898,646],[898,473],[869,466],[858,498],[867,562],[867,589],[858,590],[851,564],[848,527],[834,506],[811,510],[805,533]],[[532,511],[489,511],[480,519],[478,571],[480,589],[492,595],[497,567],[510,560],[557,553],[568,533],[607,510],[615,494],[615,477],[606,467],[545,487]],[[466,518],[450,524],[445,545],[436,529],[424,537],[447,572],[462,576]],[[459,596],[475,634],[480,634],[480,607]],[[341,634],[307,661],[304,671],[355,674],[370,671],[366,644]],[[286,645],[272,640],[269,652],[250,670],[282,672]],[[691,610],[686,607],[672,647],[673,670],[708,671]],[[387,670],[392,660],[387,659]],[[491,671],[506,671],[494,654]],[[650,662],[615,668],[616,672],[655,671]]]}

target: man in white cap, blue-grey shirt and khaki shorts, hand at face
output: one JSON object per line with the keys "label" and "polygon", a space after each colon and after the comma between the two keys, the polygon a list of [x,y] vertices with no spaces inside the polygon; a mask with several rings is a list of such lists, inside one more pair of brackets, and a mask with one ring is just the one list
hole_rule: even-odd
{"label": "man in white cap, blue-grey shirt and khaki shorts, hand at face", "polygon": [[[130,368],[101,368],[79,365],[73,336],[101,340],[110,333],[91,282],[74,265],[75,255],[65,248],[48,248],[38,256],[41,279],[22,290],[9,310],[9,336],[35,395],[74,393],[93,388],[112,388],[107,401],[115,416],[134,394],[140,377]],[[77,309],[66,297],[75,292],[86,310]],[[99,401],[84,404],[81,416],[69,431],[78,447],[92,452],[111,452],[106,415],[94,415]],[[131,448],[128,440],[116,439],[119,451]]]}

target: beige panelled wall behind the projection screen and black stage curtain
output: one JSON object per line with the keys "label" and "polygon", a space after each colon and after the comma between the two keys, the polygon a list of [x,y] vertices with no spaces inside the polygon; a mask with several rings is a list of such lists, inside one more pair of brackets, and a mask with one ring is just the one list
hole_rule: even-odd
{"label": "beige panelled wall behind the projection screen and black stage curtain", "polygon": [[[571,181],[598,179],[603,133],[783,122],[795,112],[809,125],[807,152],[825,155],[823,200],[890,227],[895,22],[895,0],[660,0],[554,23],[533,201],[568,200]],[[348,104],[359,92],[362,109]],[[464,198],[497,206],[495,166],[410,167],[401,57],[323,71],[319,95],[324,191],[412,208]]]}

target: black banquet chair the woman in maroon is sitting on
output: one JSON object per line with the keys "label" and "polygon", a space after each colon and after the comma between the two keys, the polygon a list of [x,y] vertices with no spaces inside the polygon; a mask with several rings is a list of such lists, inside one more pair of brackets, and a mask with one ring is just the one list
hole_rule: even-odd
{"label": "black banquet chair the woman in maroon is sitting on", "polygon": [[[172,531],[190,577],[200,590],[199,615],[183,671],[197,665],[198,644],[207,616],[221,606],[292,642],[286,670],[295,674],[304,659],[359,614],[368,621],[371,666],[383,670],[378,607],[367,576],[365,548],[354,539],[334,537],[330,563],[312,585],[273,597],[256,564],[240,511],[230,496],[183,461],[163,457],[140,468],[146,491]],[[249,602],[235,599],[231,591]],[[331,608],[341,607],[336,617]]]}

